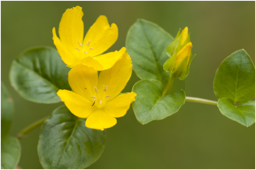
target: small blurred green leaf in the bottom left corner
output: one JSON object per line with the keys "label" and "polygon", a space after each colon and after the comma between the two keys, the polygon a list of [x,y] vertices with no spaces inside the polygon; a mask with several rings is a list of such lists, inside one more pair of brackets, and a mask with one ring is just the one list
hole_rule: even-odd
{"label": "small blurred green leaf in the bottom left corner", "polygon": [[1,169],[14,169],[20,160],[20,142],[7,137],[1,142]]}

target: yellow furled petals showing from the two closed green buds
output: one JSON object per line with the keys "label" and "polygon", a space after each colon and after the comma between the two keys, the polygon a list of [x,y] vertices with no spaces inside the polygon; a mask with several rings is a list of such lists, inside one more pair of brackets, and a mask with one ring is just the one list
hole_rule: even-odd
{"label": "yellow furled petals showing from the two closed green buds", "polygon": [[[181,46],[187,40],[188,37],[189,37],[189,29],[187,27],[185,27],[184,30],[182,31],[182,35],[181,35]],[[189,64],[191,48],[192,48],[191,42],[188,42],[183,48],[181,48],[181,50],[177,53],[176,62],[175,62],[173,69],[177,68],[177,66],[180,64],[180,62],[187,56],[188,56],[187,64]]]}

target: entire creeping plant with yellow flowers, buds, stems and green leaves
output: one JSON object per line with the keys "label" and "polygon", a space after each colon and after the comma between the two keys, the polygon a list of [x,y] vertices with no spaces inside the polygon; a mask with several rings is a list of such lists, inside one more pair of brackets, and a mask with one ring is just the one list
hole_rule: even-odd
{"label": "entire creeping plant with yellow flowers, buds, stems and green leaves", "polygon": [[[141,124],[179,111],[186,101],[215,105],[224,116],[243,126],[255,122],[255,67],[247,52],[234,52],[220,64],[213,81],[218,101],[173,91],[175,79],[185,80],[195,55],[188,28],[173,38],[158,25],[138,19],[130,28],[126,48],[103,54],[118,38],[116,24],[99,16],[84,37],[82,8],[67,9],[59,24],[57,48],[36,47],[12,62],[10,83],[26,100],[65,105],[51,115],[8,136],[13,100],[1,82],[1,168],[14,169],[20,159],[24,134],[41,126],[38,142],[45,169],[84,169],[102,154],[106,128],[117,123],[132,104]],[[132,69],[142,79],[132,92],[121,93]]]}

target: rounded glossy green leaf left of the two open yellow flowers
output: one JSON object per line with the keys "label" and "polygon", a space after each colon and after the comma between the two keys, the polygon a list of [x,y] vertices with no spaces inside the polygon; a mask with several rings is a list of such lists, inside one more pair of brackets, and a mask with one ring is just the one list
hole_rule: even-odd
{"label": "rounded glossy green leaf left of the two open yellow flowers", "polygon": [[26,100],[57,103],[61,101],[56,94],[59,89],[71,90],[67,80],[69,70],[54,48],[31,48],[12,62],[10,82]]}

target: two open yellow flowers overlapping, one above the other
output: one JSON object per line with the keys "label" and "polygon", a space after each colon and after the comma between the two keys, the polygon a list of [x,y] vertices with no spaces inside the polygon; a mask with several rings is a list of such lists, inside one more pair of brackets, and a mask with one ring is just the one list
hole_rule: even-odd
{"label": "two open yellow flowers overlapping, one above the other", "polygon": [[[116,24],[100,16],[83,39],[82,8],[67,9],[59,24],[59,36],[53,28],[53,40],[61,59],[71,68],[72,91],[59,90],[57,95],[85,126],[103,130],[116,124],[135,100],[134,92],[120,94],[132,74],[131,58],[126,48],[102,54],[118,38]],[[98,71],[100,75],[98,76]]]}

